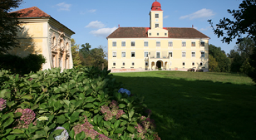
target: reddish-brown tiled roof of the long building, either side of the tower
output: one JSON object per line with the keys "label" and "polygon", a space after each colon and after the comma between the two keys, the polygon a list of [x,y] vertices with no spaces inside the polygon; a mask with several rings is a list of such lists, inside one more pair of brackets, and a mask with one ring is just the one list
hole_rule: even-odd
{"label": "reddish-brown tiled roof of the long building, either side of the tower", "polygon": [[[167,38],[209,38],[194,28],[166,27]],[[119,27],[107,38],[148,38],[148,27]],[[164,38],[164,37],[163,37]]]}

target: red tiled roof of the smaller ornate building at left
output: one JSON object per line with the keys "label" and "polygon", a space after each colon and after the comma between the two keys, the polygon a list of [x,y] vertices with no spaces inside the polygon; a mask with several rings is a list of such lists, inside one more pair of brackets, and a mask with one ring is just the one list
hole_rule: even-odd
{"label": "red tiled roof of the smaller ornate building at left", "polygon": [[40,10],[38,7],[33,6],[31,8],[25,8],[18,11],[12,11],[10,13],[22,13],[19,18],[50,18],[51,16]]}

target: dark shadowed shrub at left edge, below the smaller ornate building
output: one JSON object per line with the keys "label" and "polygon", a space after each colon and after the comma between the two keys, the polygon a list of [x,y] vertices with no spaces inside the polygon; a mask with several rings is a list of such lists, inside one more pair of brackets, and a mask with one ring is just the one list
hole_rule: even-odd
{"label": "dark shadowed shrub at left edge, below the smaller ornate building", "polygon": [[0,55],[0,68],[10,69],[13,73],[22,75],[39,71],[44,63],[43,55],[29,54],[24,58],[10,54]]}

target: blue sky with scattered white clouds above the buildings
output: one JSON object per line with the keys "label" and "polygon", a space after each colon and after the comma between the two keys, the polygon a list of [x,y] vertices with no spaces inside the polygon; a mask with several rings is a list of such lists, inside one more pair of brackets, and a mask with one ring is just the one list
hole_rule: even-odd
{"label": "blue sky with scattered white clouds above the buildings", "polygon": [[[92,48],[108,47],[106,37],[120,27],[149,27],[149,15],[155,0],[23,0],[19,8],[37,6],[76,34],[72,38],[79,45],[89,43]],[[229,53],[236,46],[236,39],[229,45],[222,43],[207,22],[214,25],[223,17],[232,18],[227,12],[238,10],[242,0],[157,0],[163,10],[164,27],[192,27],[209,36],[209,44],[220,46]]]}

